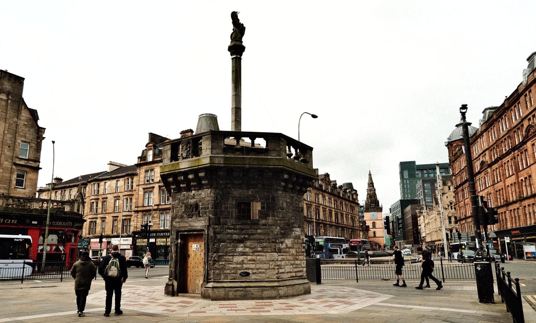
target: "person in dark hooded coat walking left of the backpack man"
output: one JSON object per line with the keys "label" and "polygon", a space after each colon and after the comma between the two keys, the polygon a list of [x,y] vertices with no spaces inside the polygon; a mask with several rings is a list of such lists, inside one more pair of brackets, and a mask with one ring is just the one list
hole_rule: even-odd
{"label": "person in dark hooded coat walking left of the backpack man", "polygon": [[87,294],[90,293],[91,282],[96,275],[96,267],[91,262],[90,253],[82,252],[82,256],[71,268],[71,276],[75,279],[75,294],[77,313],[79,317],[83,317],[86,309]]}

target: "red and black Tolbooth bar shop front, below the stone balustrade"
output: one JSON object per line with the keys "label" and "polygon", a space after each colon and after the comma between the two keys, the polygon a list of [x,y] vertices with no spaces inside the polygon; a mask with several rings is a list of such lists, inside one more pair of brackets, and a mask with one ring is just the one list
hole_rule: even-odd
{"label": "red and black Tolbooth bar shop front, below the stone balustrade", "polygon": [[[21,234],[32,237],[31,258],[43,259],[46,210],[36,213],[0,212],[0,234]],[[74,212],[51,212],[48,226],[47,263],[75,262],[78,259],[78,236],[84,224],[81,215]]]}

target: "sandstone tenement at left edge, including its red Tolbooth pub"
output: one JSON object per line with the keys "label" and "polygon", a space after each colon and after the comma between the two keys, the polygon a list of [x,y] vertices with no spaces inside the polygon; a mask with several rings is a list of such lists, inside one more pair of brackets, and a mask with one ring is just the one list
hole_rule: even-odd
{"label": "sandstone tenement at left edge, including its red Tolbooth pub", "polygon": [[69,262],[77,258],[83,199],[76,192],[69,201],[35,198],[44,128],[23,87],[24,78],[0,71],[0,234],[31,236],[28,257],[40,262],[50,208],[46,261]]}

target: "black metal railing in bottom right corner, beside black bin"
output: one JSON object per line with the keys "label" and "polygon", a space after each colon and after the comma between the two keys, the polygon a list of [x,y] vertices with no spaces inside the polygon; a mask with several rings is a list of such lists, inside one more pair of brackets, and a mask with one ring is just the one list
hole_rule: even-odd
{"label": "black metal railing in bottom right corner, beside black bin", "polygon": [[501,268],[499,264],[495,264],[495,275],[497,290],[501,295],[501,302],[506,304],[506,311],[512,314],[514,323],[525,323],[519,278],[512,279],[510,272],[504,273],[504,267]]}

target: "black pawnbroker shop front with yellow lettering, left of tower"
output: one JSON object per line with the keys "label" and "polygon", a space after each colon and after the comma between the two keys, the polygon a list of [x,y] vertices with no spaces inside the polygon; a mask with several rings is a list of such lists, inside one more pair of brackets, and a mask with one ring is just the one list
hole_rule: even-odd
{"label": "black pawnbroker shop front with yellow lettering, left of tower", "polygon": [[169,230],[151,231],[148,239],[140,232],[134,232],[133,255],[144,257],[147,251],[151,252],[151,257],[157,265],[169,265]]}

